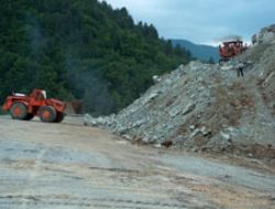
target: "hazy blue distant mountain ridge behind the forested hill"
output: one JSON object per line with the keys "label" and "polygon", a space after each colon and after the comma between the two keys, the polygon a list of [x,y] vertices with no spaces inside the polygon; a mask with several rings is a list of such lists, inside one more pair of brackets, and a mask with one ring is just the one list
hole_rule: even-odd
{"label": "hazy blue distant mountain ridge behind the forested hill", "polygon": [[219,61],[219,53],[215,46],[195,44],[187,40],[170,40],[170,42],[174,46],[178,44],[179,46],[189,51],[195,58],[198,58],[202,62],[208,62],[211,57],[215,62]]}

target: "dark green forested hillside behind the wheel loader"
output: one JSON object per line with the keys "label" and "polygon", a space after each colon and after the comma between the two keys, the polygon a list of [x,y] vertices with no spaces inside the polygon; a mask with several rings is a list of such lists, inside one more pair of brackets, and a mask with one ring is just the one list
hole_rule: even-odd
{"label": "dark green forested hillside behind the wheel loader", "polygon": [[0,0],[0,101],[15,89],[81,99],[85,111],[108,114],[131,103],[152,76],[190,54],[134,24],[125,8],[97,0]]}

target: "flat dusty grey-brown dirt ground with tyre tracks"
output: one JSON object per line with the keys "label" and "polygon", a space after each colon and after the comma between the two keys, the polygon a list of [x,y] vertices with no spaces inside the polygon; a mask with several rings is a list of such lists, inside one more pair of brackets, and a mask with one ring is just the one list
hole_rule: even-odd
{"label": "flat dusty grey-brown dirt ground with tyre tracks", "polygon": [[274,169],[249,163],[131,145],[77,119],[0,118],[1,209],[275,208]]}

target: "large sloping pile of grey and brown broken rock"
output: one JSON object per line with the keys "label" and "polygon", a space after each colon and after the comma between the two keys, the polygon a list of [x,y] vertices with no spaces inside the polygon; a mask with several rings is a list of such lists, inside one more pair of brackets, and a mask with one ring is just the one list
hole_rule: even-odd
{"label": "large sloping pile of grey and brown broken rock", "polygon": [[154,76],[155,86],[119,114],[86,116],[85,123],[136,143],[275,157],[274,29],[263,29],[255,46],[230,63],[193,62]]}

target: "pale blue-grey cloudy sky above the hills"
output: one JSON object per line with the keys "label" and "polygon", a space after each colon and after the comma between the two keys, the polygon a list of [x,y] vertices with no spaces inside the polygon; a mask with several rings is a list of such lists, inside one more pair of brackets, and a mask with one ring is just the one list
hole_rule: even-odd
{"label": "pale blue-grey cloudy sky above the hills", "polygon": [[215,44],[229,35],[244,41],[275,23],[275,0],[106,0],[125,7],[135,22],[153,23],[160,36]]}

